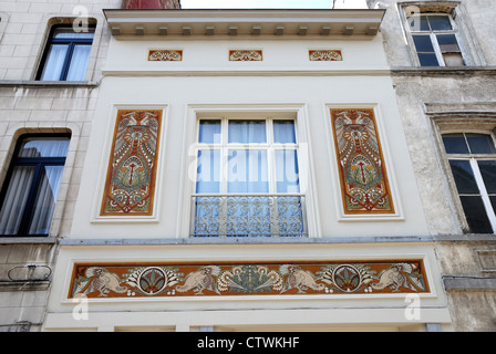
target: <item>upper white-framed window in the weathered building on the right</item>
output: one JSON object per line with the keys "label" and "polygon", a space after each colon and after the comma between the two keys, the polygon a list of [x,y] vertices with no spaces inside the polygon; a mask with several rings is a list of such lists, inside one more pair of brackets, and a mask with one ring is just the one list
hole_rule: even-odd
{"label": "upper white-framed window in the weathered building on the right", "polygon": [[448,13],[415,14],[407,18],[421,66],[464,66],[457,31]]}

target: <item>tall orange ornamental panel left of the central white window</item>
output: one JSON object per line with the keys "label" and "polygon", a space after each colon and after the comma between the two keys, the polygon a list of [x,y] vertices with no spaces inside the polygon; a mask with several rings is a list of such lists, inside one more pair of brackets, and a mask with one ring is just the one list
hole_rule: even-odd
{"label": "tall orange ornamental panel left of the central white window", "polygon": [[151,216],[162,111],[120,110],[101,216]]}

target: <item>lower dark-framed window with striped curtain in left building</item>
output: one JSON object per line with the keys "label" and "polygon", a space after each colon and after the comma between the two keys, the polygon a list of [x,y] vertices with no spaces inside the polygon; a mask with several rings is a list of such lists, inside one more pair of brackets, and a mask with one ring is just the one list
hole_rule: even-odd
{"label": "lower dark-framed window with striped curtain in left building", "polygon": [[69,143],[68,135],[20,138],[0,195],[0,235],[49,235]]}

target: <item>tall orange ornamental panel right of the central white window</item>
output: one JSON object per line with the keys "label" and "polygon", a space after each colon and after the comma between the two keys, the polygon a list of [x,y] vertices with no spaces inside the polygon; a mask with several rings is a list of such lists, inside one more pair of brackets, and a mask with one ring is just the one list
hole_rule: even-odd
{"label": "tall orange ornamental panel right of the central white window", "polygon": [[394,214],[374,111],[331,110],[344,214]]}

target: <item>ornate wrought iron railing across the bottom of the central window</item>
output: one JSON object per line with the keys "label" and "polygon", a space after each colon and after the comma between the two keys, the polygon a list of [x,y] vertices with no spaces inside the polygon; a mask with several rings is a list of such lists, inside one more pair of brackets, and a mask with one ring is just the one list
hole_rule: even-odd
{"label": "ornate wrought iron railing across the bottom of the central window", "polygon": [[301,195],[196,195],[193,237],[307,237]]}

